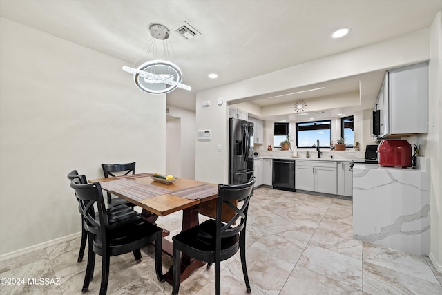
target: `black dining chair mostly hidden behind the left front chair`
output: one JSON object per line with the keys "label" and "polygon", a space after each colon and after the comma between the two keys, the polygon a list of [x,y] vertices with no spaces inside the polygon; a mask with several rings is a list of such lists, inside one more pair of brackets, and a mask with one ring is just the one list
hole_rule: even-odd
{"label": "black dining chair mostly hidden behind the left front chair", "polygon": [[[74,178],[79,178],[79,174],[78,174],[77,170],[73,170],[70,173],[68,173],[68,180],[72,181]],[[84,183],[87,183],[86,178],[83,178],[83,179],[80,178],[80,180],[84,180]],[[79,201],[78,198],[77,198],[77,201]],[[81,214],[80,207],[78,209]],[[130,208],[124,204],[109,208],[106,210],[106,213],[108,215],[108,220],[109,220],[110,225],[112,225],[114,222],[118,222],[118,221],[124,220],[126,218],[131,218],[132,216],[139,215],[132,208]],[[84,249],[86,249],[87,239],[88,239],[88,232],[86,231],[86,228],[84,227],[84,217],[81,215],[81,242],[80,242],[80,251],[78,254],[77,262],[81,262],[83,260]]]}

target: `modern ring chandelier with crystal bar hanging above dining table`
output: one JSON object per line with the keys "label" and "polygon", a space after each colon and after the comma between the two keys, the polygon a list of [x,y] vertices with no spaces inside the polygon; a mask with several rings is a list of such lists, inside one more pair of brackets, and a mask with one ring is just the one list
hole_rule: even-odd
{"label": "modern ring chandelier with crystal bar hanging above dining table", "polygon": [[[141,91],[153,94],[169,93],[175,88],[179,87],[186,90],[191,90],[190,86],[182,84],[182,72],[176,64],[173,64],[169,59],[168,46],[171,46],[166,42],[169,39],[169,30],[162,25],[153,24],[149,26],[151,32],[151,38],[148,39],[144,50],[146,50],[145,57],[151,58],[151,61],[147,61],[141,64],[137,68],[135,65],[143,55],[142,51],[140,57],[135,61],[132,67],[124,66],[123,70],[127,73],[133,74],[133,80],[135,85],[140,88]],[[157,53],[159,40],[162,41],[162,48],[164,49],[164,59],[158,59]],[[173,50],[173,48],[172,48]],[[148,53],[151,52],[151,57],[148,57]]]}

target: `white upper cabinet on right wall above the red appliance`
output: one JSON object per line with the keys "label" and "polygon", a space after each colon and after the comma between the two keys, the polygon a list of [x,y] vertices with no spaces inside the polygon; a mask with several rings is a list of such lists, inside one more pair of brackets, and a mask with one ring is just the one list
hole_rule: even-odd
{"label": "white upper cabinet on right wall above the red appliance", "polygon": [[375,110],[380,110],[379,137],[428,132],[428,63],[385,73]]}

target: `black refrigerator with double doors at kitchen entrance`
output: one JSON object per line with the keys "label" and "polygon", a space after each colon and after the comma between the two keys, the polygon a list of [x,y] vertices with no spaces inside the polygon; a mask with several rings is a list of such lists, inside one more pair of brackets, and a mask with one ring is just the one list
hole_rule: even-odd
{"label": "black refrigerator with double doors at kitchen entrance", "polygon": [[249,182],[253,175],[253,123],[229,119],[229,184]]}

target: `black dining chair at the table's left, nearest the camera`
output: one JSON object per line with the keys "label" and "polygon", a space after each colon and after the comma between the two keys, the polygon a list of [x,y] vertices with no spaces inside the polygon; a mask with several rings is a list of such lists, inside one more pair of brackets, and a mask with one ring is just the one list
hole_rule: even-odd
{"label": "black dining chair at the table's left, nearest the camera", "polygon": [[[157,279],[164,280],[161,265],[162,229],[160,227],[142,220],[138,215],[110,225],[99,182],[87,184],[84,175],[79,175],[79,178],[74,178],[70,182],[70,187],[75,190],[75,196],[80,204],[79,209],[85,220],[86,231],[88,231],[88,265],[82,292],[88,291],[90,280],[93,278],[95,254],[102,256],[102,281],[99,294],[104,295],[107,293],[111,256],[133,251],[137,263],[140,263],[140,248],[152,242],[155,242]],[[97,212],[95,212],[95,207]]]}

